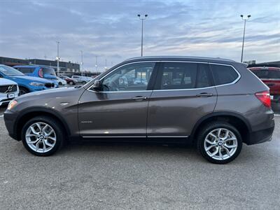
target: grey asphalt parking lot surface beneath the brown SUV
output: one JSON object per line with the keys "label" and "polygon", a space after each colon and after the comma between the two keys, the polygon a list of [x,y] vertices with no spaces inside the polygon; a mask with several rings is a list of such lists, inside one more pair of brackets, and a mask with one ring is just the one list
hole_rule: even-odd
{"label": "grey asphalt parking lot surface beneath the brown SUV", "polygon": [[275,120],[272,141],[213,165],[190,146],[147,144],[69,144],[40,158],[0,117],[0,209],[279,209]]}

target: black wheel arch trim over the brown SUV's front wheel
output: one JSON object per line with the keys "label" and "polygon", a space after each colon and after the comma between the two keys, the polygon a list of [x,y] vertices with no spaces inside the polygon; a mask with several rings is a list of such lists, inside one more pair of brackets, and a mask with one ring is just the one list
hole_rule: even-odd
{"label": "black wheel arch trim over the brown SUV's front wheel", "polygon": [[52,118],[55,118],[56,120],[61,123],[62,127],[64,128],[64,131],[69,137],[71,135],[69,126],[67,125],[64,118],[60,115],[59,112],[46,108],[46,107],[32,107],[31,109],[26,109],[20,113],[18,118],[15,120],[15,134],[18,140],[21,140],[20,132],[22,130],[22,127],[25,125],[25,123],[30,120],[31,118],[34,118],[36,116],[49,116]]}

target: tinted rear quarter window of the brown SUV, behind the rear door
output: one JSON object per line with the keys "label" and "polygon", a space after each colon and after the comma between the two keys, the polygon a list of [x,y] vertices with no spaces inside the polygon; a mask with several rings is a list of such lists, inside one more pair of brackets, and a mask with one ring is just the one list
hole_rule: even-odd
{"label": "tinted rear quarter window of the brown SUV, behind the rear door", "polygon": [[210,64],[215,85],[225,85],[234,82],[238,78],[238,73],[232,66]]}

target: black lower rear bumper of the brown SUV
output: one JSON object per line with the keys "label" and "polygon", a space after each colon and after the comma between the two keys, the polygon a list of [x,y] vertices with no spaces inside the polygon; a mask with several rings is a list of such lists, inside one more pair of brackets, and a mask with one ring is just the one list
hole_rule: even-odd
{"label": "black lower rear bumper of the brown SUV", "polygon": [[263,143],[265,141],[271,141],[273,131],[274,131],[274,126],[269,127],[265,130],[259,130],[257,132],[251,132],[250,138],[247,139],[247,141],[245,143],[248,144],[248,145],[251,145],[251,144],[260,144],[260,143]]}

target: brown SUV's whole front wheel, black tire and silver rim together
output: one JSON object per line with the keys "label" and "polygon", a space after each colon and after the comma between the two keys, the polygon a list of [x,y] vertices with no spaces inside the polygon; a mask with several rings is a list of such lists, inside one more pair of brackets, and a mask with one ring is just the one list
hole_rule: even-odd
{"label": "brown SUV's whole front wheel, black tire and silver rim together", "polygon": [[[40,133],[36,124],[41,127]],[[48,127],[46,127],[43,132],[42,130],[45,125],[48,125]],[[33,127],[38,134],[34,135],[31,127]],[[30,137],[27,137],[28,134],[30,134]],[[47,134],[49,134],[48,137]],[[22,127],[21,137],[22,144],[25,146],[27,151],[37,156],[49,156],[54,154],[62,148],[65,141],[65,134],[62,125],[59,121],[48,116],[38,116],[27,121],[27,123],[25,123]],[[53,139],[55,139],[55,141]],[[34,144],[30,144],[30,141],[34,141]]]}

